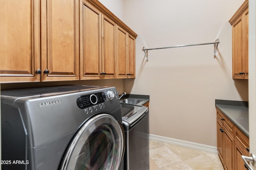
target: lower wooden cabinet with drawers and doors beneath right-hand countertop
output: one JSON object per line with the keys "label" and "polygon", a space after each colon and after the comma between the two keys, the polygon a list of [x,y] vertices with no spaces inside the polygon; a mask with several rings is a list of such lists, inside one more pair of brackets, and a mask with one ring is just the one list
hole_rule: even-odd
{"label": "lower wooden cabinet with drawers and doors beneath right-hand countertop", "polygon": [[222,165],[225,170],[245,170],[241,156],[249,156],[249,139],[219,109],[216,110],[217,150]]}

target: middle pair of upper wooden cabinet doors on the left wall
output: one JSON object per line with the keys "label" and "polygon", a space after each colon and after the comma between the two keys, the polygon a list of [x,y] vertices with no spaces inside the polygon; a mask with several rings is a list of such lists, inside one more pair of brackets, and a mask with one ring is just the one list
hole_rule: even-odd
{"label": "middle pair of upper wooden cabinet doors on the left wall", "polygon": [[88,2],[82,2],[80,79],[116,78],[116,24]]}

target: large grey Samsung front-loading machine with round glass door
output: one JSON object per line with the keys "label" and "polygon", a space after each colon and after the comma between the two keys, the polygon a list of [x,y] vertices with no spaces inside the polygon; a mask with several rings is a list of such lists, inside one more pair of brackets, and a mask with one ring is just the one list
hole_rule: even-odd
{"label": "large grey Samsung front-loading machine with round glass door", "polygon": [[114,87],[1,91],[2,170],[121,170],[125,135]]}

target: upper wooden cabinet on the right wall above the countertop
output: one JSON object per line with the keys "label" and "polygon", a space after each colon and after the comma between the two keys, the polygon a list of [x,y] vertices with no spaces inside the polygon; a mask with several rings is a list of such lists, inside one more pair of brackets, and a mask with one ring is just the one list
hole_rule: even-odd
{"label": "upper wooden cabinet on the right wall above the countertop", "polygon": [[248,0],[229,20],[232,25],[232,76],[248,79]]}

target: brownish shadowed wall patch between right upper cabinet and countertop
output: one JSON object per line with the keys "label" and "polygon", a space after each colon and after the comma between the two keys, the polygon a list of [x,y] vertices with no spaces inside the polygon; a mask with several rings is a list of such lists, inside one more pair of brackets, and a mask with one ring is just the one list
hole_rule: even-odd
{"label": "brownish shadowed wall patch between right upper cabinet and countertop", "polygon": [[248,80],[242,80],[242,79],[233,79],[234,84],[236,86],[237,92],[239,93],[239,96],[241,97],[242,101],[248,102]]}

